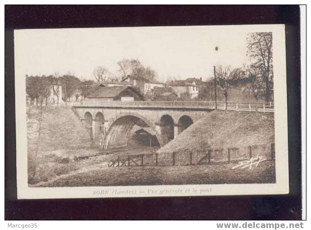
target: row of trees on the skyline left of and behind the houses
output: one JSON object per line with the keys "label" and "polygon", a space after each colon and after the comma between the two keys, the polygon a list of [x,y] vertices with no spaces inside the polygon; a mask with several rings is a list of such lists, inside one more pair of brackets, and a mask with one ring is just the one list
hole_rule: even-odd
{"label": "row of trees on the skyline left of and behind the houses", "polygon": [[[157,78],[156,71],[150,67],[145,67],[138,59],[122,59],[117,62],[117,74],[113,74],[103,66],[97,66],[93,72],[94,80],[81,80],[71,73],[60,76],[59,73],[54,73],[49,76],[27,76],[26,75],[26,93],[30,99],[30,104],[42,105],[48,104],[48,98],[51,94],[55,95],[59,104],[60,100],[65,102],[70,101],[72,97],[78,100],[79,97],[85,98],[92,89],[94,83],[109,81],[118,82],[127,77],[143,77],[150,80]],[[60,87],[63,95],[60,95]]]}

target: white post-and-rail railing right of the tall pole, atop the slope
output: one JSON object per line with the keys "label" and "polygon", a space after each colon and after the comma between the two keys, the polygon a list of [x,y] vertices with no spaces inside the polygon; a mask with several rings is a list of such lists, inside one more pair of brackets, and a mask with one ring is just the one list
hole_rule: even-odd
{"label": "white post-and-rail railing right of the tall pole, atop the slope", "polygon": [[[225,103],[217,103],[217,109],[225,110]],[[227,110],[248,112],[274,112],[274,104],[269,103],[227,103]]]}

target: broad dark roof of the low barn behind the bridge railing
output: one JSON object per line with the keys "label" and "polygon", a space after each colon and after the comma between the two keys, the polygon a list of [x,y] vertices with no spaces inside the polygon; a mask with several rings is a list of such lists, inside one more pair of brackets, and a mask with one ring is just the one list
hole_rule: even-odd
{"label": "broad dark roof of the low barn behind the bridge railing", "polygon": [[[139,94],[134,88],[130,86],[101,86],[95,89],[88,98],[111,98],[119,95],[122,91],[130,89],[133,92]],[[139,94],[140,95],[140,94]],[[140,95],[141,96],[141,95]],[[142,97],[142,96],[141,96]]]}

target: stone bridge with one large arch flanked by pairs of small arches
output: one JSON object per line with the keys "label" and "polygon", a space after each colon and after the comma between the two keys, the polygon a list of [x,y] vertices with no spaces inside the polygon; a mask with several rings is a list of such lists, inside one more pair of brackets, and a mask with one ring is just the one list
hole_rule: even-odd
{"label": "stone bridge with one large arch flanked by pairs of small arches", "polygon": [[[161,147],[214,110],[214,104],[207,101],[84,101],[73,104],[73,110],[101,148],[122,147],[139,141]],[[151,135],[132,139],[134,132],[141,128]]]}

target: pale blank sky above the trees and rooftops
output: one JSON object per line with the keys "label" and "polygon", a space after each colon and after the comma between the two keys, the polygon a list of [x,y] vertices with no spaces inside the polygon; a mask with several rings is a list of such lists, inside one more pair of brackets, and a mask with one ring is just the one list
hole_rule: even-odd
{"label": "pale blank sky above the trees and rooftops", "polygon": [[214,65],[247,63],[248,32],[241,26],[18,30],[15,62],[25,75],[70,72],[93,79],[97,66],[118,74],[117,62],[134,58],[155,70],[160,81],[206,80]]}

